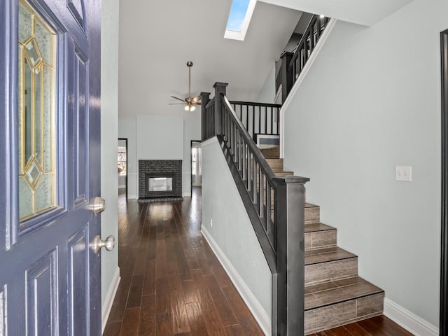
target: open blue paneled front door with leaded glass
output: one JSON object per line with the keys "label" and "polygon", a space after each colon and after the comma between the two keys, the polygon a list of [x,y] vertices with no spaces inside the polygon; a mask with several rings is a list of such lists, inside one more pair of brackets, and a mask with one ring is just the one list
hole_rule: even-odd
{"label": "open blue paneled front door with leaded glass", "polygon": [[0,336],[101,335],[100,0],[0,0]]}

